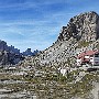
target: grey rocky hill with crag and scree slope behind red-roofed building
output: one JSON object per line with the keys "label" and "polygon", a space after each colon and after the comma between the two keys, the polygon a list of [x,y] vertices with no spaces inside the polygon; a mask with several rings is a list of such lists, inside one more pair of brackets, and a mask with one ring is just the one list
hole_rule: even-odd
{"label": "grey rocky hill with crag and scree slope behind red-roofed building", "polygon": [[91,11],[72,18],[57,41],[31,59],[33,65],[75,65],[76,56],[99,47],[99,15]]}

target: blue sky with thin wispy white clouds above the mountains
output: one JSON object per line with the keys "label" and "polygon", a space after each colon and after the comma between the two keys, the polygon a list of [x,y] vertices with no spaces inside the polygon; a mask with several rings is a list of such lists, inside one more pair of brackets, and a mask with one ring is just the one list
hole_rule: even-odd
{"label": "blue sky with thin wispy white clouds above the mountains", "polygon": [[45,50],[81,12],[99,13],[99,0],[0,0],[0,40],[21,52]]}

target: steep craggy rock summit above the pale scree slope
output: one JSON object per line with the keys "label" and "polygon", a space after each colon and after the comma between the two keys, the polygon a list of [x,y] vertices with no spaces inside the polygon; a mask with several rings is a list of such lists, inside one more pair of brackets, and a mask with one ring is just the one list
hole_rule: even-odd
{"label": "steep craggy rock summit above the pale scree slope", "polygon": [[63,26],[58,41],[68,41],[70,37],[86,41],[99,38],[99,15],[94,12],[85,12],[72,18],[67,26]]}

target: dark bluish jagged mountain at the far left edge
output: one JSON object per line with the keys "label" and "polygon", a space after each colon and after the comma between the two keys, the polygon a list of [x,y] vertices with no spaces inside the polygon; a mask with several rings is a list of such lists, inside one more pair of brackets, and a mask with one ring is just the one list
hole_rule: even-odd
{"label": "dark bluish jagged mountain at the far left edge", "polygon": [[20,50],[0,40],[0,65],[15,65],[20,61],[23,61]]}

